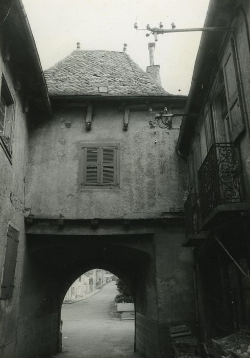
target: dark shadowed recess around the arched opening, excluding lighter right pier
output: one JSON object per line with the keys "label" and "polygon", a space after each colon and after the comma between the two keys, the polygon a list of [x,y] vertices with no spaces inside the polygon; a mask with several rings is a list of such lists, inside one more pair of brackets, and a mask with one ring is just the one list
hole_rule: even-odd
{"label": "dark shadowed recess around the arched opening, excluding lighter right pier", "polygon": [[[58,351],[64,296],[83,272],[100,267],[120,277],[133,295],[136,306],[135,349],[138,351],[145,329],[152,330],[149,341],[155,340],[157,334],[157,327],[153,324],[146,328],[147,321],[154,322],[153,317],[157,316],[153,253],[151,235],[30,236],[19,333],[28,330],[34,335],[33,341],[41,356]],[[22,345],[19,350],[22,350],[20,356],[29,356],[30,348],[27,346]]]}

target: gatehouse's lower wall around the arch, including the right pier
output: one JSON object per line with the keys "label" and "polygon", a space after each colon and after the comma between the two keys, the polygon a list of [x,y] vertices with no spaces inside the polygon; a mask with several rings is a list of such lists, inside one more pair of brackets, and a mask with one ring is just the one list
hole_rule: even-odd
{"label": "gatehouse's lower wall around the arch, including the right pier", "polygon": [[101,235],[92,229],[84,237],[88,230],[80,226],[79,235],[70,235],[71,230],[65,225],[60,235],[53,235],[52,228],[44,236],[42,230],[29,234],[17,358],[57,352],[63,297],[72,282],[93,267],[113,272],[130,288],[136,306],[136,351],[146,358],[170,356],[169,326],[196,324],[192,253],[181,249],[183,228],[148,221],[147,234],[112,222],[97,230]]}

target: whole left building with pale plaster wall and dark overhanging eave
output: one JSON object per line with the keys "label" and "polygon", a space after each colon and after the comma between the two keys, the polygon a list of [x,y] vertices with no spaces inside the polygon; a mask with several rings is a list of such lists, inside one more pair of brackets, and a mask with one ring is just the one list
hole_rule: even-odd
{"label": "whole left building with pale plaster wall and dark overhanging eave", "polygon": [[[20,315],[26,234],[24,195],[28,122],[49,107],[34,40],[21,3],[2,23],[10,1],[0,5],[0,356],[14,357]],[[30,48],[30,51],[28,50]],[[45,90],[45,92],[44,92]],[[32,96],[32,102],[29,100]],[[39,104],[40,103],[40,104]],[[41,110],[41,108],[40,108]],[[41,110],[41,113],[45,111]]]}

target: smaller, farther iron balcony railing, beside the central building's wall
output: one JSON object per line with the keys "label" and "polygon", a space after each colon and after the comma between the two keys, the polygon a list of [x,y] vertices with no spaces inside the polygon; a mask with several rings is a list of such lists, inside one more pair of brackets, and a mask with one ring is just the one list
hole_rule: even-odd
{"label": "smaller, farther iron balcony railing, beside the central building's wall", "polygon": [[189,194],[184,205],[186,237],[198,233],[199,194]]}

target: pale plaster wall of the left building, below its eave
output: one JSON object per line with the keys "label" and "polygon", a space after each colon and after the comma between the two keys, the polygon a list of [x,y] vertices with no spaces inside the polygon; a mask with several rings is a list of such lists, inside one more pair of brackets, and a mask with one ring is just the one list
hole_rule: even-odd
{"label": "pale plaster wall of the left building, below its eave", "polygon": [[10,299],[0,300],[0,356],[9,358],[15,354],[25,247],[23,205],[27,163],[27,121],[26,116],[22,113],[20,92],[14,89],[14,74],[10,69],[10,62],[3,61],[0,51],[0,76],[2,74],[5,76],[14,100],[14,120],[12,127],[12,163],[10,163],[0,145],[0,276],[3,272],[5,260],[9,221],[19,230],[13,296]]}

